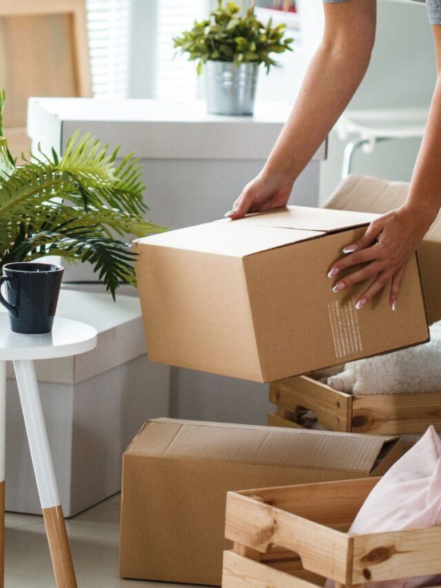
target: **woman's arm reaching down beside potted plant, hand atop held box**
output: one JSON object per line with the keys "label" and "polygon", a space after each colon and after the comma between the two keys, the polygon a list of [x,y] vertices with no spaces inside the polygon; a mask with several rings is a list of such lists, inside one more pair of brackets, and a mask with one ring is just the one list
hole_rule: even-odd
{"label": "woman's arm reaching down beside potted plant, hand atop held box", "polygon": [[371,57],[376,0],[325,3],[325,32],[267,163],[225,216],[285,206],[298,175],[360,85]]}

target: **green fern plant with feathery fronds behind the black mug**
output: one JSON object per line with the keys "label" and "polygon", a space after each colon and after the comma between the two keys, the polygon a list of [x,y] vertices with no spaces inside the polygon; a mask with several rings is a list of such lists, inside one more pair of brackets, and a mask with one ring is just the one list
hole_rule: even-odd
{"label": "green fern plant with feathery fronds behind the black mug", "polygon": [[[17,165],[3,136],[5,93],[0,93],[0,267],[61,255],[88,262],[115,297],[120,283],[135,285],[127,234],[160,232],[144,218],[145,186],[133,154],[119,165],[118,149],[108,153],[90,134],[77,131],[61,158],[52,149],[22,154]],[[115,238],[118,237],[118,238]]]}

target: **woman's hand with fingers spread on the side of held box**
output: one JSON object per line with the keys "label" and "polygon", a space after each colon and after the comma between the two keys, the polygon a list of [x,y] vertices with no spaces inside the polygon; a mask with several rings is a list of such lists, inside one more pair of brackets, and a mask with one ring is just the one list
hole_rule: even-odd
{"label": "woman's hand with fingers spread on the side of held box", "polygon": [[334,278],[347,267],[365,265],[337,281],[332,290],[341,292],[352,284],[375,278],[358,298],[356,308],[361,308],[391,281],[389,302],[392,309],[396,310],[398,290],[406,265],[433,220],[405,204],[380,216],[369,225],[361,239],[345,247],[343,253],[348,254],[347,257],[334,263],[327,275]]}

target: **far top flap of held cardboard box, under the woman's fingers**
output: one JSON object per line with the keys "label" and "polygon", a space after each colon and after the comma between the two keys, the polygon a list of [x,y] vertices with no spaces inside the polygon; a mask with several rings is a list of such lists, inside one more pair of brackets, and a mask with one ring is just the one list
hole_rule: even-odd
{"label": "far top flap of held cardboard box, under the woman's fingers", "polygon": [[[332,207],[336,208],[335,206]],[[378,214],[353,212],[349,210],[331,210],[331,208],[311,208],[308,206],[287,206],[269,212],[250,214],[244,219],[232,221],[224,219],[220,223],[240,226],[257,225],[262,227],[279,227],[285,229],[322,231],[325,233],[351,229],[367,225]]]}

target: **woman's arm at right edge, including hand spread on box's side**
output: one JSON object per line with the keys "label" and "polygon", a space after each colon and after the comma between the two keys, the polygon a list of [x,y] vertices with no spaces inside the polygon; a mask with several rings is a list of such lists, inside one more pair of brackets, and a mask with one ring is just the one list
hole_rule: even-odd
{"label": "woman's arm at right edge, including hand spread on box's side", "polygon": [[406,265],[441,207],[441,25],[432,28],[438,77],[407,200],[398,210],[373,221],[359,241],[347,245],[343,252],[349,255],[335,263],[328,274],[334,278],[347,267],[367,263],[334,285],[334,290],[340,292],[353,283],[374,278],[358,299],[357,308],[391,281],[389,300],[396,310]]}

